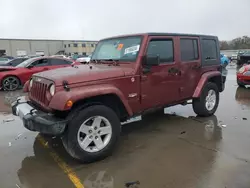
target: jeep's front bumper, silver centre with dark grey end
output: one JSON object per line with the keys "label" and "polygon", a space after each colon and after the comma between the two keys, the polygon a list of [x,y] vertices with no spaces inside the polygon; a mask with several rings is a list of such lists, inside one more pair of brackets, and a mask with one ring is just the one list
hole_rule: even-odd
{"label": "jeep's front bumper, silver centre with dark grey end", "polygon": [[24,97],[12,103],[12,113],[22,119],[25,128],[43,134],[61,135],[68,123],[65,119],[35,109]]}

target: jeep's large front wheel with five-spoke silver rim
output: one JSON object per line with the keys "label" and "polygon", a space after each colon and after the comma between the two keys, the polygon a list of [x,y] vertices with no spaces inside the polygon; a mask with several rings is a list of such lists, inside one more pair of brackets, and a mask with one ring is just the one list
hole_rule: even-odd
{"label": "jeep's large front wheel with five-spoke silver rim", "polygon": [[121,124],[109,107],[94,105],[73,115],[63,145],[67,152],[82,162],[94,162],[109,156],[120,137]]}

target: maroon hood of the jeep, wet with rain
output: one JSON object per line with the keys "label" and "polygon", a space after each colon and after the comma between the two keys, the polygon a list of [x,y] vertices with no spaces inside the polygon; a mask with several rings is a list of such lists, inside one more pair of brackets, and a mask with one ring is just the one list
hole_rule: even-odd
{"label": "maroon hood of the jeep, wet with rain", "polygon": [[77,65],[37,73],[34,76],[43,77],[55,82],[57,86],[66,80],[69,84],[87,81],[103,80],[125,76],[125,72],[133,72],[130,67],[113,65]]}

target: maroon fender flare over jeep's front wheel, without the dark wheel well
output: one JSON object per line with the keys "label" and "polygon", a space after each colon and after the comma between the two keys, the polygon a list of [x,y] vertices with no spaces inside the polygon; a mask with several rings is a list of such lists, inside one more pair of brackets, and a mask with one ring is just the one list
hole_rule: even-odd
{"label": "maroon fender flare over jeep's front wheel, without the dark wheel well", "polygon": [[71,107],[67,107],[65,104],[68,100],[71,100],[73,104],[79,100],[87,99],[90,97],[96,97],[106,94],[115,94],[122,101],[129,115],[132,115],[132,110],[128,104],[127,99],[123,93],[112,85],[92,85],[83,86],[81,88],[73,88],[70,91],[61,90],[55,93],[49,103],[49,108],[59,111],[70,110]]}

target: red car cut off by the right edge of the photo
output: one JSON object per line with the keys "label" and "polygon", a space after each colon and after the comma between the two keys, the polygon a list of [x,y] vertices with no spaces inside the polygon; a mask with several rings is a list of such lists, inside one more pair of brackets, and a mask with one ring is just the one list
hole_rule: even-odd
{"label": "red car cut off by the right edge of the photo", "polygon": [[240,87],[250,85],[250,65],[242,66],[237,72],[237,83]]}

